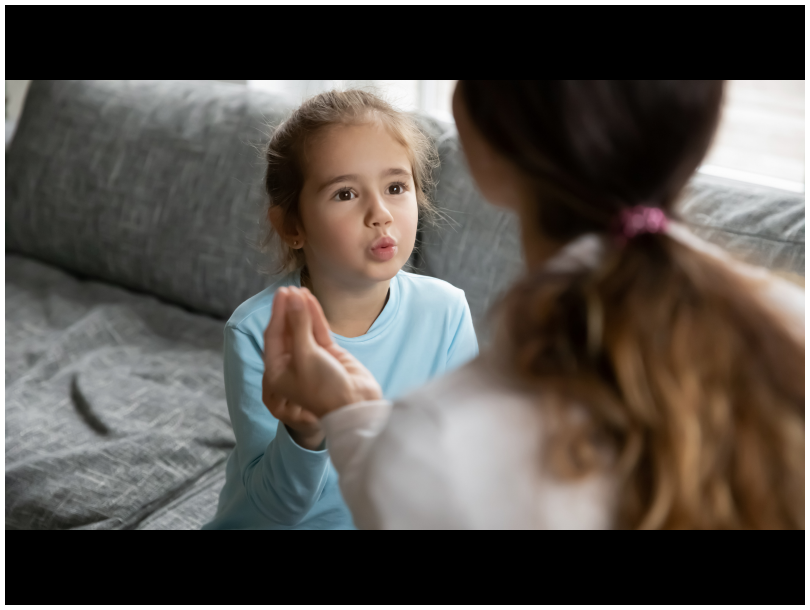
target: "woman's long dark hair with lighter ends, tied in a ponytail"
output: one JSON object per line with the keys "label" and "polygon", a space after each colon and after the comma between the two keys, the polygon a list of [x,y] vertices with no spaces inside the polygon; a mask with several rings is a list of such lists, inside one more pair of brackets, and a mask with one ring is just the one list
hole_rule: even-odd
{"label": "woman's long dark hair with lighter ends, tied in a ponytail", "polygon": [[[715,131],[722,81],[463,81],[487,141],[537,184],[552,240],[671,213]],[[804,343],[722,262],[666,234],[502,306],[512,366],[549,405],[558,475],[605,468],[616,525],[804,528]],[[581,417],[582,409],[588,417]],[[608,449],[606,451],[606,449]]]}

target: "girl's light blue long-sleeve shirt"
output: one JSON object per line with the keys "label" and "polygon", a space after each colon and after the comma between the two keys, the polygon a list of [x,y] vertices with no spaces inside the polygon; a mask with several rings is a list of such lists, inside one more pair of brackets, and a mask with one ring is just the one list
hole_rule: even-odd
{"label": "girl's light blue long-sleeve shirt", "polygon": [[[352,529],[329,454],[297,445],[262,402],[264,330],[273,295],[295,272],[240,305],[225,325],[225,392],[236,435],[214,519],[204,529]],[[335,341],[396,399],[478,354],[464,292],[400,271],[365,335]]]}

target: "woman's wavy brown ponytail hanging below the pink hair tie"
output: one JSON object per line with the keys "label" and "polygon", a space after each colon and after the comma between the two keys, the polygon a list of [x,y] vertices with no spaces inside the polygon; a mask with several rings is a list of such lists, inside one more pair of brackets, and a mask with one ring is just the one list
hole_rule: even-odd
{"label": "woman's wavy brown ponytail hanging below the pink hair tie", "polygon": [[743,282],[649,235],[509,294],[514,368],[551,405],[549,462],[615,468],[619,525],[804,527],[804,346]]}

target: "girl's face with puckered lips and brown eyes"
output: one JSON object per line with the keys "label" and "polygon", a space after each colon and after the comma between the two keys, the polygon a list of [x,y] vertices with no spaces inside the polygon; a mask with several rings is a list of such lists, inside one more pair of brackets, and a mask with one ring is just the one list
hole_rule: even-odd
{"label": "girl's face with puckered lips and brown eyes", "polygon": [[418,208],[407,150],[378,122],[330,127],[307,146],[299,228],[311,274],[362,286],[413,251]]}

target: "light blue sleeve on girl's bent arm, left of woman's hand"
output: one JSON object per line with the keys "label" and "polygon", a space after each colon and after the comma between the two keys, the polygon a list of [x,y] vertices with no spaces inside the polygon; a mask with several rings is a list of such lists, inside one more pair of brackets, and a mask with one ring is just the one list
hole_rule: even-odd
{"label": "light blue sleeve on girl's bent arm, left of woman's hand", "polygon": [[249,334],[225,327],[225,394],[242,484],[266,518],[296,525],[326,485],[329,455],[292,440],[262,402],[263,345]]}

